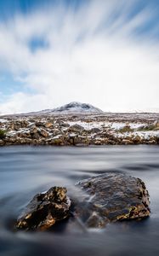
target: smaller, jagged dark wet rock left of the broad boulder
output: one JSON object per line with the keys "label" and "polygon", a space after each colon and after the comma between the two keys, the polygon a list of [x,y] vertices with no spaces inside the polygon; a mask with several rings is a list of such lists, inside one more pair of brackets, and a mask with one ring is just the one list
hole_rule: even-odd
{"label": "smaller, jagged dark wet rock left of the broad boulder", "polygon": [[35,195],[18,218],[16,228],[47,230],[56,222],[67,218],[71,201],[66,192],[65,188],[53,187],[46,193]]}

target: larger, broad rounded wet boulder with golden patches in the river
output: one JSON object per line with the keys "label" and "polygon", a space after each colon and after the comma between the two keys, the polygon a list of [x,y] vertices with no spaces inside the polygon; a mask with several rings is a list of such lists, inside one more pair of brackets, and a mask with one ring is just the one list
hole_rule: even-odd
{"label": "larger, broad rounded wet boulder with golden patches in the river", "polygon": [[83,194],[75,203],[75,212],[88,227],[101,228],[109,222],[150,215],[149,193],[139,178],[105,173],[77,186]]}

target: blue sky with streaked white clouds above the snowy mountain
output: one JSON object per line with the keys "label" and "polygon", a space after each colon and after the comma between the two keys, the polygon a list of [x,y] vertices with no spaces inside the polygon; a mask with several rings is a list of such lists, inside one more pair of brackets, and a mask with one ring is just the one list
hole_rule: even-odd
{"label": "blue sky with streaked white clouds above the snowy mountain", "polygon": [[0,1],[0,114],[159,112],[158,96],[159,1]]}

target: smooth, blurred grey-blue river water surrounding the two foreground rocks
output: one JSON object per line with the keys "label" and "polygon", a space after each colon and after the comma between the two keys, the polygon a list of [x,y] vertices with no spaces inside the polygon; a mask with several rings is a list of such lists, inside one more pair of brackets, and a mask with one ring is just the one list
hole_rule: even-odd
{"label": "smooth, blurred grey-blue river water surrounding the two foreground rocks", "polygon": [[[74,183],[104,172],[140,177],[150,192],[150,218],[86,230],[69,218],[47,232],[15,232],[32,196],[54,185],[76,195]],[[159,255],[159,147],[0,148],[0,255]]]}

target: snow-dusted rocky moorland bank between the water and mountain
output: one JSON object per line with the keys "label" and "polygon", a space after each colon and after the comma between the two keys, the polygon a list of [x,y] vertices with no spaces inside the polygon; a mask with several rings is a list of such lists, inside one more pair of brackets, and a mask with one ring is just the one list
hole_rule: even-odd
{"label": "snow-dusted rocky moorland bank between the water and mountain", "polygon": [[159,144],[158,113],[11,115],[0,118],[0,146]]}

